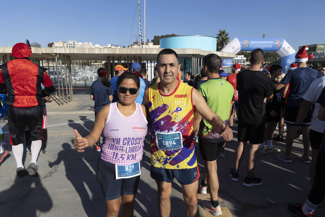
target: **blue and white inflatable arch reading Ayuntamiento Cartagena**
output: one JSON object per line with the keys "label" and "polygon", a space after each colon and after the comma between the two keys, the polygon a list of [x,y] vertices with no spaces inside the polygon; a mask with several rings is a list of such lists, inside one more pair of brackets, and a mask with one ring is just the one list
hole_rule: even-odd
{"label": "blue and white inflatable arch reading Ayuntamiento Cartagena", "polygon": [[[296,51],[283,38],[234,38],[221,52],[238,53],[261,48],[263,51],[276,51],[281,57],[282,72],[287,73],[289,65],[295,62]],[[231,66],[232,59],[222,60],[222,66]]]}

